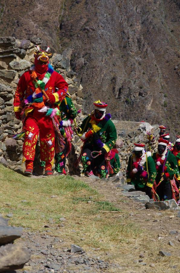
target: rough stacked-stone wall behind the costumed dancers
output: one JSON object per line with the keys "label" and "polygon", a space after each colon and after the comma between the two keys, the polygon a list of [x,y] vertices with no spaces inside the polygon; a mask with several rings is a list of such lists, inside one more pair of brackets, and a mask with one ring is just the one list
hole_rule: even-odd
{"label": "rough stacked-stone wall behind the costumed dancers", "polygon": [[[13,37],[0,38],[0,162],[17,171],[24,170],[24,166],[22,166],[23,141],[12,139],[12,135],[21,132],[22,129],[21,121],[14,117],[13,97],[20,76],[34,62],[33,52],[35,45],[40,45],[40,43],[41,40],[39,38],[32,38],[30,40],[16,40]],[[54,53],[50,62],[55,69],[60,71],[68,83],[72,101],[79,110],[83,107],[83,88],[76,78],[76,73],[70,67],[68,56],[70,56],[68,50],[62,54]],[[83,113],[80,113],[76,120],[80,122],[83,118]],[[127,160],[133,143],[137,141],[145,141],[147,143],[146,127],[149,123],[114,120],[114,124],[117,129],[118,142],[121,143],[119,156],[121,169],[125,176]],[[159,126],[155,125],[154,129],[154,135],[157,138]],[[75,134],[72,151],[69,154],[67,162],[69,174],[80,174],[80,169],[75,169],[74,162],[80,153],[81,146],[82,141]],[[36,147],[35,161],[34,172],[42,174],[43,170],[39,168],[39,145]]]}

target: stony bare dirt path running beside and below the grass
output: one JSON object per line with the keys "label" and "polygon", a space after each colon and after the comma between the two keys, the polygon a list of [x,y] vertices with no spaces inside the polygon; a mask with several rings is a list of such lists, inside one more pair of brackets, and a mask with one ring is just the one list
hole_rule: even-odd
{"label": "stony bare dirt path running beside and below the grass", "polygon": [[[74,176],[74,178],[79,179],[78,176]],[[121,193],[122,189],[117,187],[117,183],[99,179],[91,180],[85,177],[81,177],[81,179],[104,195],[105,200],[112,202],[121,210],[118,213],[110,211],[102,213],[107,214],[107,217],[120,217],[124,223],[126,223],[126,219],[130,219],[133,223],[136,222],[139,228],[146,231],[142,238],[138,238],[134,242],[131,251],[126,251],[126,245],[124,245],[122,257],[128,258],[129,261],[123,263],[121,260],[118,263],[112,257],[103,259],[98,251],[96,254],[91,251],[80,254],[70,253],[69,242],[61,238],[60,230],[58,231],[59,235],[54,236],[48,226],[43,233],[38,231],[33,233],[27,228],[24,230],[24,238],[17,242],[30,248],[32,252],[31,261],[26,264],[24,273],[180,272],[178,263],[180,218],[177,217],[178,211],[146,210],[143,204],[124,197]],[[56,227],[54,228],[56,229]],[[61,228],[66,227],[61,224]],[[169,245],[169,241],[172,245]],[[172,256],[161,257],[159,255],[161,250],[167,251]]]}

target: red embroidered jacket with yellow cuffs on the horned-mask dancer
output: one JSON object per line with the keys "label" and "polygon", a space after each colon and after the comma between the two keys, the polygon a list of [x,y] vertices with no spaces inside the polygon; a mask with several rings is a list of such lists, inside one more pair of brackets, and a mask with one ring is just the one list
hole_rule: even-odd
{"label": "red embroidered jacket with yellow cuffs on the horned-mask dancer", "polygon": [[[56,92],[56,89],[58,91]],[[26,99],[29,95],[32,95],[35,91],[35,86],[31,79],[31,71],[24,72],[21,76],[15,96],[14,96],[14,112],[21,112],[21,102]],[[49,81],[45,85],[45,91],[50,98],[50,103],[61,102],[68,91],[68,84],[63,79],[63,77],[56,71],[50,76]],[[44,103],[47,99],[45,99]]]}

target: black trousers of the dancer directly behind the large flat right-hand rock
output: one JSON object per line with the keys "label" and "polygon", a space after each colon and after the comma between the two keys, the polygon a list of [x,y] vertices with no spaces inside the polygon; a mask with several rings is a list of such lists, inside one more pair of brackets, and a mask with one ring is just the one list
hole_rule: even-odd
{"label": "black trousers of the dancer directly behind the large flat right-hand rock", "polygon": [[156,193],[158,194],[160,201],[172,199],[172,189],[170,182],[168,181],[167,183],[167,181],[163,180],[157,187]]}

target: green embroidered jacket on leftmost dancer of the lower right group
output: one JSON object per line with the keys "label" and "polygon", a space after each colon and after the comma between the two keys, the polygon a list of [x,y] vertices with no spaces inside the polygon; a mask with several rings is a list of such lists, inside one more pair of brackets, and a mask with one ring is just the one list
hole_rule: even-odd
{"label": "green embroidered jacket on leftmost dancer of the lower right group", "polygon": [[[156,179],[156,167],[154,160],[151,156],[147,157],[147,167],[149,176],[148,179],[144,179],[143,177],[140,177],[140,172],[137,172],[136,174],[131,174],[132,171],[132,164],[133,159],[131,158],[132,155],[129,157],[128,165],[127,165],[127,171],[126,171],[126,180],[127,183],[131,182],[134,186],[137,186],[138,188],[144,188],[145,186],[153,187],[154,181]],[[146,169],[146,162],[143,165],[143,170],[147,171]]]}

